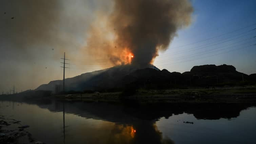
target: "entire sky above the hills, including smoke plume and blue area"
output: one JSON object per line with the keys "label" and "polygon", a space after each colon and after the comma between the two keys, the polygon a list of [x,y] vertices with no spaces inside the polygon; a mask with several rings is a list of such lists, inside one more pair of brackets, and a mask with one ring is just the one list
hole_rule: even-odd
{"label": "entire sky above the hills, including smoke plume and blue area", "polygon": [[[254,0],[2,0],[0,91],[18,92],[117,64],[256,73]],[[159,55],[159,56],[158,56]],[[132,56],[134,56],[132,58]]]}

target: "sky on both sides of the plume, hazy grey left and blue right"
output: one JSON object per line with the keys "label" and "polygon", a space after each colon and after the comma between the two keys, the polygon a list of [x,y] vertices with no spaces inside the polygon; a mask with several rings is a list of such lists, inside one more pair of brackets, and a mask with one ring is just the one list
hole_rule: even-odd
{"label": "sky on both sides of the plume, hazy grey left and blue right", "polygon": [[[256,1],[191,3],[192,24],[178,31],[154,65],[183,73],[195,65],[228,64],[245,74],[256,73],[256,46],[251,46],[256,43]],[[71,63],[67,78],[111,66],[102,67],[104,61],[100,60],[91,63],[94,58],[85,48],[88,29],[99,14],[109,14],[112,7],[112,0],[2,0],[0,91],[6,93],[15,85],[19,92],[62,79],[64,52]]]}

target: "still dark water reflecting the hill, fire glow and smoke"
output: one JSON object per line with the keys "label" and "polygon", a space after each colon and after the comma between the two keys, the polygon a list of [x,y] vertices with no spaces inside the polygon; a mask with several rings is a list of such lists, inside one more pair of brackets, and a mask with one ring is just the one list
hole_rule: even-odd
{"label": "still dark water reflecting the hill, fire glow and smoke", "polygon": [[256,143],[256,107],[247,104],[0,101],[0,115],[46,144]]}

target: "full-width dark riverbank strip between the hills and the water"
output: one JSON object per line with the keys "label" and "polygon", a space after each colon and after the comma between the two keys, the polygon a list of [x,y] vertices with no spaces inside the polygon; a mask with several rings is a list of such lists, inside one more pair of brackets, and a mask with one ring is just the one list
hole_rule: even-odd
{"label": "full-width dark riverbank strip between the hills and the water", "polygon": [[136,102],[136,103],[256,103],[256,86],[145,90],[131,89],[122,92],[66,92],[29,90],[14,95],[1,95],[0,100],[26,101],[59,99],[85,102]]}

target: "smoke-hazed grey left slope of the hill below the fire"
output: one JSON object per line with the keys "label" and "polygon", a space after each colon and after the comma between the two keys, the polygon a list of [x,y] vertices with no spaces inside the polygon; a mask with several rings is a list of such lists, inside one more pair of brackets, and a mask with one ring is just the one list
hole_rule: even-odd
{"label": "smoke-hazed grey left slope of the hill below the fire", "polygon": [[[93,71],[91,73],[85,73],[73,78],[65,79],[66,91],[84,91],[84,90],[109,90],[120,89],[125,86],[122,82],[124,76],[131,74],[137,69],[151,68],[159,70],[153,65],[147,65],[145,67],[137,65],[120,65],[103,70]],[[36,90],[51,90],[56,91],[56,85],[60,86],[62,90],[62,80],[51,81],[48,84],[40,85]]]}

